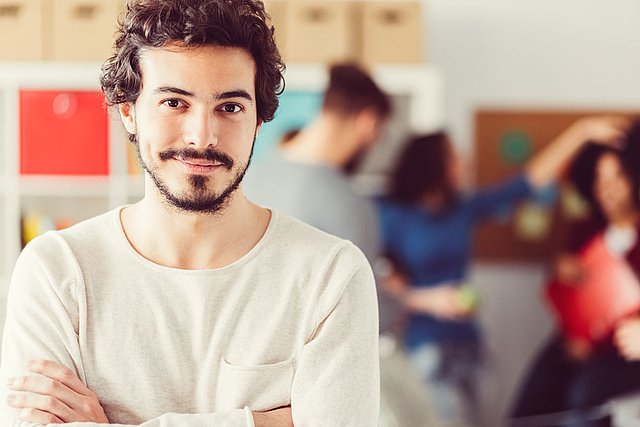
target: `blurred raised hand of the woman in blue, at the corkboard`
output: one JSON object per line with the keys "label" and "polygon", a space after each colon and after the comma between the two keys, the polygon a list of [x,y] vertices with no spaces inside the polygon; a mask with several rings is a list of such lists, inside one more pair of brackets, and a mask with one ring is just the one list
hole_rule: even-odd
{"label": "blurred raised hand of the woman in blue, at the corkboard", "polygon": [[631,124],[631,119],[620,116],[586,117],[571,125],[569,132],[576,132],[582,141],[622,148],[622,141]]}

